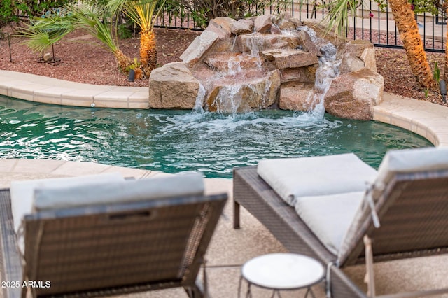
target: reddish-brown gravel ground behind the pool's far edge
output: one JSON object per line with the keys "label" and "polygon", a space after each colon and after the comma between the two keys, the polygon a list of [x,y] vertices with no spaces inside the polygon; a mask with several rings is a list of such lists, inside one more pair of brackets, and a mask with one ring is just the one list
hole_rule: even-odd
{"label": "reddish-brown gravel ground behind the pool's far edge", "polygon": [[[11,29],[2,28],[2,31],[11,32]],[[156,28],[155,34],[158,64],[164,65],[181,61],[179,56],[201,32]],[[129,57],[139,57],[138,36],[121,40],[120,49]],[[3,38],[0,41],[0,69],[96,85],[148,85],[146,79],[129,82],[127,76],[118,71],[113,55],[82,31],[73,32],[56,43],[54,52],[58,62],[39,62],[41,53],[29,50],[22,38],[11,37],[9,42],[8,38]],[[437,62],[442,76],[444,53],[428,52],[427,56],[431,68]],[[438,92],[423,90],[416,83],[404,50],[377,48],[376,59],[378,72],[384,77],[384,91],[442,104]]]}

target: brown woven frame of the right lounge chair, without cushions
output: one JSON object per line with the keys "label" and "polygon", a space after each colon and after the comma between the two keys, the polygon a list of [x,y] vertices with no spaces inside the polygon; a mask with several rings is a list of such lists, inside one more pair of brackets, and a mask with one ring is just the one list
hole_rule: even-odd
{"label": "brown woven frame of the right lounge chair, without cushions", "polygon": [[341,270],[344,266],[365,262],[364,235],[372,239],[376,262],[448,253],[446,170],[396,175],[376,204],[381,227],[375,229],[372,219],[367,218],[356,234],[351,253],[337,266],[337,257],[318,241],[294,208],[258,176],[255,166],[235,169],[233,183],[234,228],[240,227],[239,208],[243,206],[290,252],[331,264],[327,287],[332,297],[367,297]]}

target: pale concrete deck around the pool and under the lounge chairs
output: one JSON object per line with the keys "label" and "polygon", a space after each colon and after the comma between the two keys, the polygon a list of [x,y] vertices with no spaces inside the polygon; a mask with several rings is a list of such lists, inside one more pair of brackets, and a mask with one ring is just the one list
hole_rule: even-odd
{"label": "pale concrete deck around the pool and under the lounge chairs", "polygon": [[[130,108],[130,99],[148,99],[147,88],[109,87],[38,77],[25,73],[0,71],[0,94],[38,101],[39,98],[57,99],[50,104],[64,104],[82,101],[85,106],[94,103],[118,104],[116,108]],[[52,85],[55,84],[55,85]],[[74,92],[73,90],[83,90]],[[118,89],[116,89],[118,88]],[[67,91],[67,90],[72,91]],[[59,90],[59,91],[58,91]],[[114,93],[114,91],[116,93]],[[145,91],[146,90],[146,91]],[[59,92],[59,93],[58,93]],[[113,96],[108,97],[107,94]],[[64,101],[67,94],[75,94],[76,101]],[[83,95],[84,94],[84,95]],[[36,96],[35,96],[36,95]],[[95,101],[95,98],[97,101]],[[127,106],[123,103],[127,102]],[[100,104],[101,103],[101,104]],[[393,94],[384,94],[382,104],[374,108],[374,119],[409,129],[424,136],[435,146],[448,146],[448,108],[426,101],[405,99]],[[0,187],[9,187],[13,180],[80,176],[93,173],[120,172],[123,176],[149,178],[166,175],[157,171],[129,169],[90,162],[66,162],[34,159],[0,159]],[[204,179],[207,193],[228,192],[229,201],[207,252],[207,276],[211,297],[232,298],[238,296],[241,264],[252,257],[265,253],[286,252],[272,234],[244,208],[241,210],[241,229],[232,228],[232,180]],[[402,292],[430,288],[447,288],[448,255],[421,257],[375,264],[377,293]],[[347,274],[365,290],[364,267],[358,265],[346,269]],[[323,285],[315,285],[316,297],[325,297]],[[244,296],[246,285],[241,288]],[[253,288],[254,297],[271,297],[272,292]],[[282,297],[303,297],[304,290],[282,292]],[[129,297],[187,297],[182,289],[144,292]],[[441,296],[439,296],[441,297]],[[443,297],[448,297],[445,295]]]}

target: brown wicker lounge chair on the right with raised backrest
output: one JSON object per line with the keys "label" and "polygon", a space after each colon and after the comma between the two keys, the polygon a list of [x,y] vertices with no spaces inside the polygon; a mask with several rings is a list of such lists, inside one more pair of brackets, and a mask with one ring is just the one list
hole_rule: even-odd
{"label": "brown wicker lounge chair on the right with raised backrest", "polygon": [[[315,162],[323,157],[312,158],[314,159],[310,160]],[[334,155],[330,159],[339,157]],[[316,167],[322,167],[313,173],[319,176],[318,172],[325,171],[331,164],[330,159],[325,159],[320,165],[316,164]],[[278,162],[279,159],[273,161],[274,164]],[[297,166],[293,159],[288,163]],[[345,164],[342,171],[349,171],[353,169],[352,166],[350,163]],[[369,171],[367,169],[367,176],[371,174]],[[234,227],[238,229],[240,226],[239,208],[243,206],[290,252],[309,255],[327,265],[328,295],[342,298],[373,297],[374,261],[448,253],[448,148],[388,152],[378,173],[374,174],[374,182],[361,192],[360,204],[353,212],[350,225],[336,253],[325,244],[325,239],[316,236],[316,227],[310,228],[309,223],[297,215],[285,197],[281,197],[279,192],[282,190],[274,190],[260,177],[257,166],[234,171]],[[344,174],[340,177],[333,176],[335,180],[342,179],[335,184],[344,185]],[[362,180],[363,175],[359,176]],[[357,178],[359,177],[353,176],[353,180]],[[309,179],[312,178],[304,178],[305,183],[313,184]],[[314,186],[325,183],[326,180],[323,179],[320,184]],[[347,194],[349,195],[349,192]],[[342,197],[344,195],[342,194]],[[323,195],[319,199],[322,197],[328,198]],[[323,202],[329,203],[328,200]],[[329,208],[337,206],[332,205]],[[331,216],[329,212],[327,210],[323,217]],[[363,262],[366,263],[369,279],[367,293],[360,290],[342,271],[343,267]],[[430,290],[426,293],[398,293],[387,297],[416,297],[442,292],[448,292],[448,289]]]}

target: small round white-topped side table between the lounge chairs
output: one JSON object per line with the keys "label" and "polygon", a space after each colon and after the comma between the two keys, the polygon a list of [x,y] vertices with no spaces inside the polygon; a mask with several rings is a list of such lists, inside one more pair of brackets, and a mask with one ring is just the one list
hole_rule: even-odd
{"label": "small round white-topped side table between the lounge chairs", "polygon": [[272,297],[280,296],[280,290],[298,290],[307,288],[307,293],[314,296],[311,285],[320,283],[325,276],[323,265],[306,255],[295,253],[272,253],[254,257],[241,267],[238,297],[243,278],[248,283],[246,298],[252,297],[251,285],[272,289]]}

